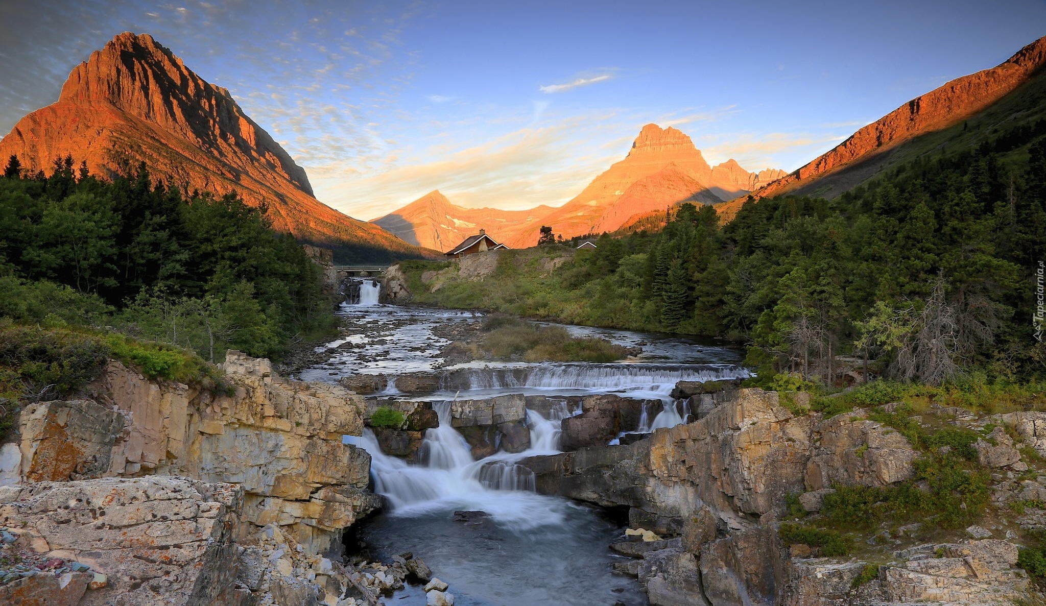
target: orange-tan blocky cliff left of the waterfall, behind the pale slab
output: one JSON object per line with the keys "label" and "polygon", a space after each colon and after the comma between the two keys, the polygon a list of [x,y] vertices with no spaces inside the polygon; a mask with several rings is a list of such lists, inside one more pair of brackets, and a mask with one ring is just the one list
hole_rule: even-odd
{"label": "orange-tan blocky cliff left of the waterfall, behind the pale slab", "polygon": [[245,521],[283,527],[311,553],[380,506],[370,456],[342,443],[363,430],[363,398],[280,378],[267,359],[230,351],[231,395],[151,381],[113,362],[96,401],[43,402],[22,416],[30,482],[146,474],[243,487]]}

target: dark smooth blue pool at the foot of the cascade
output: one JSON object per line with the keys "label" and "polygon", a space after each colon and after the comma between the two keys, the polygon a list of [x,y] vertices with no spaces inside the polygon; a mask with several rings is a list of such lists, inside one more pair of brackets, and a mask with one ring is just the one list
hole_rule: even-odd
{"label": "dark smooth blue pool at the foot of the cascade", "polygon": [[[490,520],[454,521],[450,511],[409,518],[381,514],[360,537],[386,560],[403,552],[422,557],[450,583],[455,605],[645,605],[634,579],[611,573],[611,563],[624,558],[607,545],[622,540],[623,532],[592,509],[573,504],[565,509],[563,523],[525,531]],[[425,604],[425,592],[409,587],[385,602]]]}

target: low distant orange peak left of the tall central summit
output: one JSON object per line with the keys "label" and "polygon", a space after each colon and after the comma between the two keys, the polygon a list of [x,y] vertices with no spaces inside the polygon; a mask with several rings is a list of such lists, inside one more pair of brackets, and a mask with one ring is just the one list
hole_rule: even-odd
{"label": "low distant orange peak left of the tall central summit", "polygon": [[500,242],[513,226],[544,216],[551,210],[544,205],[529,210],[463,208],[451,204],[435,190],[371,223],[412,244],[448,251],[480,229]]}

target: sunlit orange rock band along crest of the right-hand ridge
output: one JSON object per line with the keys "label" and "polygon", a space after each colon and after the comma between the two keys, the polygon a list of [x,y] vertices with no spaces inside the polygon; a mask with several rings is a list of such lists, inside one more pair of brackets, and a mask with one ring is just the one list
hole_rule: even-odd
{"label": "sunlit orange rock band along crest of the right-hand ridge", "polygon": [[[1046,63],[1046,37],[1025,46],[992,69],[956,78],[915,97],[848,139],[756,193],[772,196],[802,188],[810,192],[817,181],[919,135],[939,131],[976,114],[1028,81]],[[834,190],[838,195],[842,190]],[[730,205],[727,210],[737,204]]]}

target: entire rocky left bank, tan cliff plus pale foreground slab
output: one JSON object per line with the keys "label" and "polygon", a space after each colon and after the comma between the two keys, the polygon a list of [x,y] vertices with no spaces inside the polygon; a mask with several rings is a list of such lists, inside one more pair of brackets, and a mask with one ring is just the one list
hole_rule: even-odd
{"label": "entire rocky left bank, tan cliff plus pale foreground slab", "polygon": [[356,606],[323,555],[381,505],[369,454],[342,443],[362,435],[363,398],[235,351],[223,370],[231,393],[214,395],[113,362],[91,399],[23,411],[21,457],[0,457],[22,479],[0,486],[16,529],[0,549],[71,572],[30,572],[0,601]]}

